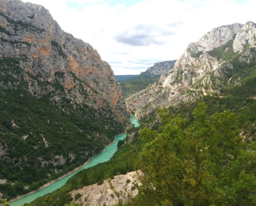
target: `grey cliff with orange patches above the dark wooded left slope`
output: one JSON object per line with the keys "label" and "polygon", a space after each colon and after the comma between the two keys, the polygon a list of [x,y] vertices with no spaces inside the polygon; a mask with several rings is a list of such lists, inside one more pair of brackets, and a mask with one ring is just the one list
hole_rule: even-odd
{"label": "grey cliff with orange patches above the dark wooded left slope", "polygon": [[[41,97],[54,90],[50,85],[42,90],[29,75],[59,83],[71,104],[95,109],[107,105],[114,110],[113,118],[123,122],[125,101],[110,65],[91,45],[64,32],[47,9],[20,0],[0,0],[0,28],[0,57],[20,60],[29,92]],[[58,101],[59,95],[51,98]]]}

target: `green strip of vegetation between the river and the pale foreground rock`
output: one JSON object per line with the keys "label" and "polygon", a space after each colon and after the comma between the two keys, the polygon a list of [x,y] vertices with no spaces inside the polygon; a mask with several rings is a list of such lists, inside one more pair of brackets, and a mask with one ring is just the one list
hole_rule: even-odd
{"label": "green strip of vegetation between the river and the pale foreground rock", "polygon": [[143,141],[138,139],[139,128],[131,128],[127,133],[133,133],[135,138],[131,143],[127,143],[118,148],[113,157],[104,163],[97,164],[88,169],[83,169],[73,177],[71,177],[67,183],[52,192],[51,194],[44,195],[37,198],[28,205],[56,205],[62,206],[69,204],[73,199],[69,194],[72,190],[77,190],[86,185],[95,183],[101,183],[107,177],[114,178],[119,174],[126,174],[129,171],[134,171],[134,160],[138,156],[138,152],[141,150]]}

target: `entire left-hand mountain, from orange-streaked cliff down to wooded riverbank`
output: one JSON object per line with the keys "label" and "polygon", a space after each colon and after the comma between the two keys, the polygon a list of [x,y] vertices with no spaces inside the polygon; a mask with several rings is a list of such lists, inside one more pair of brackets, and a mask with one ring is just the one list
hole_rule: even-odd
{"label": "entire left-hand mountain, from orange-streaked cliff down to wooded riverbank", "polygon": [[47,9],[20,0],[0,0],[0,103],[8,199],[82,165],[130,127],[110,65]]}

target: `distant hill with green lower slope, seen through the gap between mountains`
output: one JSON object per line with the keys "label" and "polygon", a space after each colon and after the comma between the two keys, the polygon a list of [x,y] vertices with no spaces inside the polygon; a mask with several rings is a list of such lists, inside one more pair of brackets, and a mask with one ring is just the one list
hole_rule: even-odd
{"label": "distant hill with green lower slope, seen through the gap between mountains", "polygon": [[174,67],[175,62],[176,60],[155,63],[140,75],[129,78],[128,80],[119,81],[124,96],[129,96],[148,87],[148,85],[157,81],[162,74],[170,71]]}

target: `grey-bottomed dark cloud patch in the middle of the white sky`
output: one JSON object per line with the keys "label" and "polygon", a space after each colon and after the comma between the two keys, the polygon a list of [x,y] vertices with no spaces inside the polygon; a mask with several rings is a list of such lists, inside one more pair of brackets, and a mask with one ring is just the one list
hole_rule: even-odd
{"label": "grey-bottomed dark cloud patch in the middle of the white sky", "polygon": [[114,39],[119,43],[130,46],[150,46],[152,44],[163,45],[162,36],[171,36],[175,32],[171,31],[170,26],[158,27],[155,25],[136,25],[133,28],[118,33]]}

